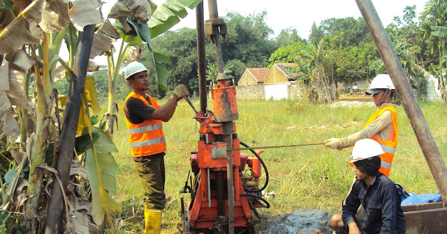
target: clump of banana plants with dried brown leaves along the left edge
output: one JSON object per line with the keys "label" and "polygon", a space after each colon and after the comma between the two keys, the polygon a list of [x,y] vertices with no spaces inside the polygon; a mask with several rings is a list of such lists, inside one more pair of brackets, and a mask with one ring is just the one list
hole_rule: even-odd
{"label": "clump of banana plants with dried brown leaves along the left edge", "polygon": [[[140,3],[144,1],[146,0],[126,1],[126,3],[130,3],[130,5],[125,6],[127,10],[130,10],[130,15],[127,21],[122,22],[131,25],[136,36],[149,43],[153,54],[154,67],[159,77],[157,79],[159,81],[159,91],[163,91],[167,87],[167,71],[161,63],[166,63],[168,59],[166,56],[153,52],[152,45],[150,45],[151,37],[168,30],[178,22],[178,17],[186,16],[184,7],[193,8],[200,1],[166,1],[159,8],[159,13],[157,11],[154,13],[153,19],[156,22],[151,23],[152,28],[139,24],[138,20],[135,22],[135,19],[139,19],[141,15],[141,11],[139,11]],[[111,197],[113,192],[116,191],[113,188],[116,186],[114,175],[117,166],[116,163],[113,163],[115,160],[111,156],[111,153],[115,150],[110,151],[110,149],[113,149],[112,147],[106,150],[101,148],[102,145],[110,145],[112,141],[106,134],[101,134],[101,130],[91,127],[89,106],[91,106],[94,115],[98,114],[92,79],[87,78],[85,90],[82,91],[82,105],[78,118],[77,132],[78,134],[84,132],[80,135],[84,140],[75,143],[75,148],[79,148],[77,147],[78,143],[85,145],[85,142],[88,142],[87,145],[91,147],[78,152],[78,161],[75,162],[75,165],[72,164],[71,172],[56,171],[52,166],[48,166],[54,163],[58,150],[61,150],[58,148],[58,138],[64,132],[64,126],[61,126],[59,118],[59,102],[57,101],[59,97],[54,92],[54,78],[57,73],[56,63],[59,61],[66,68],[65,77],[67,81],[70,81],[71,69],[76,59],[74,52],[76,45],[78,45],[78,31],[82,31],[89,24],[98,24],[102,21],[101,16],[98,15],[98,1],[73,0],[70,2],[70,8],[60,1],[53,0],[17,1],[15,4],[20,4],[17,7],[10,1],[5,2],[6,4],[3,6],[3,1],[0,2],[1,24],[7,25],[0,32],[0,60],[2,61],[0,67],[0,88],[2,89],[0,90],[0,100],[2,101],[0,105],[0,134],[2,137],[5,135],[13,138],[17,135],[22,136],[20,138],[21,149],[25,156],[21,157],[20,162],[16,162],[17,169],[13,169],[8,174],[13,178],[10,180],[8,187],[1,187],[2,198],[8,197],[9,199],[9,201],[2,203],[1,208],[7,211],[27,210],[27,212],[24,212],[25,219],[23,222],[17,219],[12,223],[19,226],[27,224],[27,233],[39,233],[43,230],[45,220],[38,220],[36,217],[44,211],[41,208],[45,207],[45,203],[47,203],[47,199],[45,199],[48,194],[46,189],[51,183],[54,183],[54,185],[58,183],[58,174],[71,173],[71,175],[77,175],[75,176],[76,180],[87,178],[89,181],[88,186],[93,199],[91,206],[95,211],[95,215],[91,219],[94,220],[97,228],[102,224],[104,216],[108,219],[109,226],[112,227],[110,212],[119,212],[121,208]],[[135,2],[139,3],[135,4]],[[147,2],[151,3],[150,1]],[[152,5],[149,4],[151,10]],[[142,16],[144,17],[144,15],[143,13]],[[147,20],[149,20],[149,17],[147,17]],[[94,35],[91,57],[103,54],[103,52],[112,52],[111,38],[114,35],[117,38],[117,31],[110,30],[108,22],[103,22],[98,28]],[[126,33],[129,33],[129,31]],[[68,63],[62,61],[58,56],[62,39],[65,39],[70,53]],[[124,57],[126,49],[121,51]],[[118,74],[120,66],[121,63],[112,66],[110,74]],[[31,90],[31,94],[29,90]],[[35,100],[32,100],[33,97]],[[61,100],[63,99],[61,98]],[[13,105],[18,107],[17,112],[13,111]],[[15,113],[18,113],[19,123],[13,116]],[[27,119],[32,121],[26,121]],[[31,122],[34,122],[30,124],[35,125],[34,130],[31,131],[31,137],[25,139],[27,136],[25,131],[29,128],[27,123]],[[31,162],[28,162],[27,159],[31,159]],[[103,159],[107,159],[107,162],[101,161]],[[28,165],[29,171],[23,173]],[[25,176],[29,175],[28,181],[24,179],[24,174]],[[47,178],[45,181],[43,180],[44,175]],[[89,220],[89,214],[81,214],[80,210],[73,209],[73,204],[76,204],[78,199],[88,197],[88,193],[85,193],[85,190],[88,189],[82,188],[76,182],[74,184],[78,187],[76,192],[73,192],[73,189],[70,190],[70,187],[68,187],[68,192],[82,194],[83,198],[73,198],[70,194],[64,194],[64,196],[68,196],[65,201],[61,201],[61,203],[66,203],[66,231],[88,233],[89,228],[86,227],[91,227],[91,225],[88,221],[86,223],[85,220]],[[24,186],[27,186],[27,196],[21,194]],[[46,188],[45,192],[41,191],[42,187]],[[8,191],[8,193],[5,193],[5,191]],[[19,200],[17,205],[17,198],[25,199]],[[41,198],[43,198],[44,204],[38,205],[38,201],[42,201]],[[12,216],[8,215],[8,217]]]}

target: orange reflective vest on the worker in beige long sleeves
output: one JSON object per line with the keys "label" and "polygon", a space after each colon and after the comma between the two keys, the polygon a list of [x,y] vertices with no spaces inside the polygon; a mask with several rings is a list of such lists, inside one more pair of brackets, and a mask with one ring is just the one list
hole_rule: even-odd
{"label": "orange reflective vest on the worker in beige long sleeves", "polygon": [[372,123],[372,121],[374,121],[378,116],[380,116],[384,111],[387,111],[387,110],[391,112],[391,118],[393,120],[393,129],[394,129],[393,138],[388,141],[381,141],[381,139],[379,139],[376,136],[376,134],[374,134],[374,136],[372,136],[371,139],[373,139],[374,141],[377,141],[380,144],[380,146],[382,147],[382,150],[385,152],[382,155],[380,155],[380,158],[382,161],[381,161],[381,167],[380,167],[379,171],[381,173],[385,174],[385,176],[390,176],[391,164],[393,164],[393,157],[394,157],[394,153],[395,153],[396,147],[397,147],[397,140],[399,139],[399,136],[398,136],[399,132],[397,130],[396,108],[393,106],[381,107],[381,109],[378,109],[376,112],[374,112],[374,114],[372,114],[371,117],[369,117],[364,128],[366,128],[367,125]]}

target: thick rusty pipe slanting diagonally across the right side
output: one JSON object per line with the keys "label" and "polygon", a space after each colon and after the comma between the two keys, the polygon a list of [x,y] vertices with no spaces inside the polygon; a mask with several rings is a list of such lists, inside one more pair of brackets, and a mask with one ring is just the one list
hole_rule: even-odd
{"label": "thick rusty pipe slanting diagonally across the right side", "polygon": [[434,182],[439,189],[444,205],[447,204],[447,169],[439,149],[434,141],[432,132],[427,125],[422,110],[419,107],[402,65],[397,58],[390,38],[377,15],[371,0],[356,0],[357,6],[362,13],[363,19],[368,26],[379,54],[385,63],[386,70],[390,74],[397,94],[400,97],[406,116],[408,116],[414,134],[418,139],[420,149],[430,168]]}

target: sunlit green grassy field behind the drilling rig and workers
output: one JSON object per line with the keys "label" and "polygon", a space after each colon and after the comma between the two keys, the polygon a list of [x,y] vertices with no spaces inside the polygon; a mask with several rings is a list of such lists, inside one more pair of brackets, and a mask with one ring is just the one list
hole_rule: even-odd
{"label": "sunlit green grassy field behind the drilling rig and workers", "polygon": [[[193,101],[200,107],[198,101]],[[161,100],[159,104],[163,104]],[[374,107],[330,107],[297,100],[238,101],[237,136],[249,146],[277,146],[300,143],[320,143],[330,137],[345,137],[361,130]],[[211,103],[208,104],[212,109]],[[441,104],[421,104],[427,123],[434,135],[441,155],[446,161],[447,136],[445,126],[447,108]],[[425,157],[420,150],[408,118],[402,107],[397,107],[399,144],[390,178],[417,194],[438,191]],[[168,206],[163,217],[163,231],[177,233],[181,224],[179,189],[191,169],[189,155],[196,150],[198,127],[194,112],[186,102],[178,104],[173,118],[163,125],[168,145],[166,163],[166,192]],[[119,130],[114,141],[119,150],[115,155],[119,165],[117,200],[124,209],[116,214],[121,227],[118,233],[141,233],[142,189],[133,168],[124,126],[119,114]],[[341,211],[341,202],[353,180],[352,168],[347,166],[351,149],[332,150],[324,146],[266,149],[261,157],[268,166],[270,182],[267,191],[274,191],[270,209],[260,209],[263,224],[300,208]],[[244,152],[244,153],[249,153]],[[265,178],[261,177],[261,181]]]}

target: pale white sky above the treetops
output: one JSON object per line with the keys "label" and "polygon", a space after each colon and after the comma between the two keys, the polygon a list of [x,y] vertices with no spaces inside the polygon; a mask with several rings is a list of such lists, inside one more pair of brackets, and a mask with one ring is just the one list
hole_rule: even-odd
{"label": "pale white sky above the treetops", "polygon": [[[103,15],[108,15],[108,10],[117,0],[107,0],[103,5]],[[157,6],[161,6],[166,0],[152,0]],[[204,1],[205,20],[208,16],[208,1]],[[374,8],[379,15],[383,26],[393,22],[395,16],[404,15],[406,6],[416,5],[416,15],[424,10],[425,0],[372,0]],[[228,12],[237,12],[243,16],[256,15],[265,10],[267,16],[265,23],[274,31],[271,38],[279,35],[282,29],[297,29],[298,35],[308,39],[315,22],[318,26],[321,21],[328,18],[361,17],[360,10],[355,0],[217,0],[219,17]],[[196,10],[186,8],[188,16],[181,19],[171,30],[188,27],[196,28]],[[117,43],[115,43],[117,47]],[[96,56],[94,61],[105,65],[105,56]]]}

